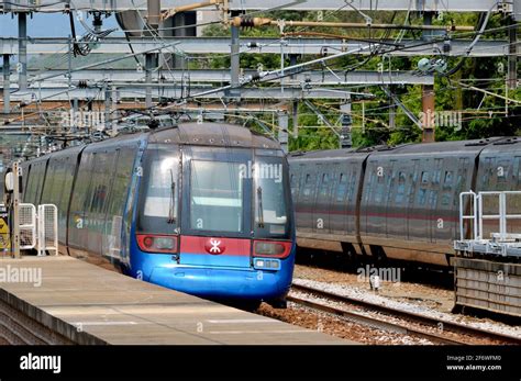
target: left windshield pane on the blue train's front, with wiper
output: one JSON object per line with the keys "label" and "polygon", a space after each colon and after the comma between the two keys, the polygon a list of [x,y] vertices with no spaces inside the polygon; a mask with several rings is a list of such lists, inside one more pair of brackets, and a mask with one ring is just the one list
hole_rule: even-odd
{"label": "left windshield pane on the blue train's front, with wiper", "polygon": [[179,147],[148,145],[142,166],[136,231],[178,234]]}

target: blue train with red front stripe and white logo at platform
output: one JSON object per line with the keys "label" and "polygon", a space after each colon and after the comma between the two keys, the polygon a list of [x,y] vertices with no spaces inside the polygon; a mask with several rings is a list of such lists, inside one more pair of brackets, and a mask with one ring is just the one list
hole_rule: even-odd
{"label": "blue train with red front stripe and white logo at platform", "polygon": [[58,206],[59,251],[202,298],[285,302],[295,265],[277,142],[186,123],[22,164],[23,201]]}

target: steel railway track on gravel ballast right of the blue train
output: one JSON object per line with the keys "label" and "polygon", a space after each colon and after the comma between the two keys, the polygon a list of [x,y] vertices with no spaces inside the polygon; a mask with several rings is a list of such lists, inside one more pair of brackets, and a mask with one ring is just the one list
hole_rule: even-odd
{"label": "steel railway track on gravel ballast right of the blue train", "polygon": [[[521,344],[520,337],[514,337],[514,336],[496,333],[491,330],[484,330],[481,328],[475,328],[472,326],[463,325],[463,324],[446,321],[446,320],[439,320],[431,316],[426,316],[426,315],[422,315],[422,314],[418,314],[413,312],[408,312],[403,310],[398,310],[398,309],[393,309],[393,307],[381,305],[381,304],[362,301],[358,299],[352,299],[345,295],[339,295],[335,293],[331,293],[328,291],[314,289],[314,288],[302,285],[302,284],[292,284],[291,289],[293,291],[298,291],[301,293],[308,293],[311,295],[320,296],[329,301],[342,303],[342,304],[345,304],[345,306],[347,307],[350,305],[357,305],[373,312],[378,312],[380,314],[385,314],[391,317],[397,317],[401,321],[401,323],[386,321],[386,320],[383,320],[381,316],[380,317],[368,316],[359,312],[347,311],[345,307],[332,306],[324,303],[320,303],[314,300],[295,296],[291,294],[288,295],[288,301],[291,301],[293,303],[301,304],[301,305],[304,305],[318,311],[331,313],[333,315],[342,316],[342,317],[348,318],[351,321],[354,321],[356,323],[361,323],[364,325],[369,325],[369,326],[374,326],[374,327],[385,329],[385,330],[390,330],[395,333],[425,338],[437,344],[444,344],[444,345],[472,344],[469,343],[469,340],[447,337],[446,333],[454,333],[458,335],[468,335],[470,337],[486,338],[490,340],[500,341],[502,344],[511,344],[511,345]],[[419,324],[422,326],[422,328],[410,326],[410,323]]]}

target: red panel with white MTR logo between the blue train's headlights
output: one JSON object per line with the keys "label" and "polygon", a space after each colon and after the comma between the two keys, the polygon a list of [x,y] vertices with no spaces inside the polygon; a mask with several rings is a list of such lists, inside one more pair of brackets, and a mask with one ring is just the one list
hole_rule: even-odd
{"label": "red panel with white MTR logo between the blue train's headlights", "polygon": [[243,238],[181,236],[180,251],[212,256],[250,256],[252,240]]}

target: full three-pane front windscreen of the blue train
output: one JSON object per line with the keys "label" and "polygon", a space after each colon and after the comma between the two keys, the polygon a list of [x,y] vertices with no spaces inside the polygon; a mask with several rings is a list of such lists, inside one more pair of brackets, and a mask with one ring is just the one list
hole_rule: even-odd
{"label": "full three-pane front windscreen of the blue train", "polygon": [[263,154],[190,147],[181,159],[171,145],[149,147],[137,233],[290,239],[287,164],[276,150]]}

